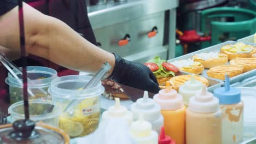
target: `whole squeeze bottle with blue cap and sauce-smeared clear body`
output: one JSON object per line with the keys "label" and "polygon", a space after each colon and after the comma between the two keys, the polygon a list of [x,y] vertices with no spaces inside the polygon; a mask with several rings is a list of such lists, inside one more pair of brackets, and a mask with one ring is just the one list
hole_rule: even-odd
{"label": "whole squeeze bottle with blue cap and sauce-smeared clear body", "polygon": [[241,91],[230,87],[229,76],[225,75],[225,87],[214,90],[222,109],[222,143],[240,143],[243,139],[243,101]]}

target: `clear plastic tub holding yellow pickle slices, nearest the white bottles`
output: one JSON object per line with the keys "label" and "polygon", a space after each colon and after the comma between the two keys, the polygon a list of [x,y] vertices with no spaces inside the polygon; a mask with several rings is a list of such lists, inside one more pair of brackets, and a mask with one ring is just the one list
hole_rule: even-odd
{"label": "clear plastic tub holding yellow pickle slices, nearest the white bottles", "polygon": [[81,89],[89,82],[91,76],[62,76],[51,82],[48,89],[53,101],[64,110],[72,100],[80,100],[73,106],[74,115],[62,112],[59,128],[71,137],[85,136],[96,130],[100,123],[100,95],[104,87],[99,82],[95,87]]}

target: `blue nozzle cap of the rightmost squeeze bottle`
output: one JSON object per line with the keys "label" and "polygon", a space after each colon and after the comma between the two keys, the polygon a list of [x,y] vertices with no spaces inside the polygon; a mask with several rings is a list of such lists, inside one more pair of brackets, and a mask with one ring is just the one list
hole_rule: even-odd
{"label": "blue nozzle cap of the rightmost squeeze bottle", "polygon": [[219,99],[219,104],[237,104],[241,101],[241,91],[230,87],[228,75],[225,75],[225,87],[216,88],[213,93]]}

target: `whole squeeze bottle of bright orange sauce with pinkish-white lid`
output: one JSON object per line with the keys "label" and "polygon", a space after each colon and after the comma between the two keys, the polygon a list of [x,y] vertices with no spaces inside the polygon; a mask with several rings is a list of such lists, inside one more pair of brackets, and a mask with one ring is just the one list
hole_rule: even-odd
{"label": "whole squeeze bottle of bright orange sauce with pinkish-white lid", "polygon": [[161,89],[153,99],[161,107],[166,135],[172,137],[177,144],[184,144],[186,107],[182,95],[170,89],[170,85],[167,84],[166,89]]}

